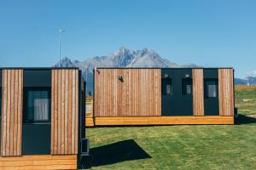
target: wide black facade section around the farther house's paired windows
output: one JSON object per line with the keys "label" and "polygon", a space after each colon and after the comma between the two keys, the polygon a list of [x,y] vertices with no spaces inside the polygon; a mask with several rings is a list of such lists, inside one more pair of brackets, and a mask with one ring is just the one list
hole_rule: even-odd
{"label": "wide black facade section around the farther house's paired windows", "polygon": [[162,69],[161,78],[166,77],[172,79],[172,95],[162,95],[162,116],[193,116],[193,95],[182,90],[182,80],[192,77],[192,69]]}

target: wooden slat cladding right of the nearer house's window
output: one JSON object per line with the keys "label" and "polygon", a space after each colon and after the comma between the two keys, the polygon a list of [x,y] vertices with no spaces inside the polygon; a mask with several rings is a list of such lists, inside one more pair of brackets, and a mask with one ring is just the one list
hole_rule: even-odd
{"label": "wooden slat cladding right of the nearer house's window", "polygon": [[78,153],[79,70],[52,70],[51,154]]}

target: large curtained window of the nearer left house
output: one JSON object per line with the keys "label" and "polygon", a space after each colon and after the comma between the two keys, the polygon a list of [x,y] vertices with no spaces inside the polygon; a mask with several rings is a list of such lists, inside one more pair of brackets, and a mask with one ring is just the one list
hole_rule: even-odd
{"label": "large curtained window of the nearer left house", "polygon": [[49,122],[50,88],[26,88],[24,122]]}

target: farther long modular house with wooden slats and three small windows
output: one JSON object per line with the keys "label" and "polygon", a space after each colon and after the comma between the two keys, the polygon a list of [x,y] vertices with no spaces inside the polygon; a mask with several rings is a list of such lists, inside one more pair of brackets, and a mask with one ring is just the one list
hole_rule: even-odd
{"label": "farther long modular house with wooden slats and three small windows", "polygon": [[232,68],[96,68],[94,114],[86,121],[234,124],[233,73]]}

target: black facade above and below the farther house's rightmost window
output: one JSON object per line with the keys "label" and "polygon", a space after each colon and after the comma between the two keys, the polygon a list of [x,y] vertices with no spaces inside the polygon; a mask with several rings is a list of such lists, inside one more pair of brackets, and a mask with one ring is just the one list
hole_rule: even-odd
{"label": "black facade above and below the farther house's rightmost window", "polygon": [[[218,69],[204,69],[204,79],[212,78],[218,79]],[[218,116],[218,98],[206,98],[204,99],[205,116]]]}

